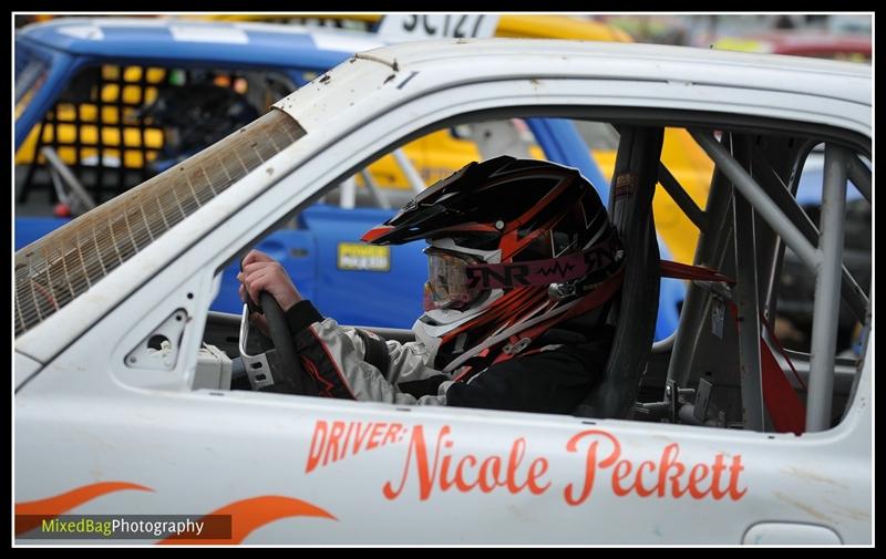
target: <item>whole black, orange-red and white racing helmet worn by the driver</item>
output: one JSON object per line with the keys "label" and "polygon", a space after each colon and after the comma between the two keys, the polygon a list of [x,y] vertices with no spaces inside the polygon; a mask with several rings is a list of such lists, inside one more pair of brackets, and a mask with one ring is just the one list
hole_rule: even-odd
{"label": "whole black, orange-red and white racing helmet worn by the driver", "polygon": [[620,270],[624,256],[606,207],[577,169],[511,156],[466,165],[362,239],[427,241],[424,313],[413,330],[456,352],[549,328]]}

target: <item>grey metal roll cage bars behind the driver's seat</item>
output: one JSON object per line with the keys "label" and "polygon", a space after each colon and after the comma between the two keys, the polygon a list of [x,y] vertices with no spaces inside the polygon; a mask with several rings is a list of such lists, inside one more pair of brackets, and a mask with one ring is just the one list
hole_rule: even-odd
{"label": "grey metal roll cage bars behind the driver's seat", "polygon": [[[824,431],[831,426],[839,296],[864,325],[869,325],[870,320],[869,299],[842,261],[847,179],[870,203],[870,169],[846,147],[825,143],[820,229],[793,197],[799,175],[789,188],[780,170],[791,169],[776,169],[751,135],[723,134],[723,141],[719,142],[711,131],[689,128],[689,132],[717,164],[707,208],[700,209],[662,164],[658,178],[701,232],[696,265],[721,269],[734,232],[738,281],[732,296],[742,325],[739,361],[744,426],[755,431],[765,428],[758,317],[774,317],[777,265],[786,245],[816,277],[806,431]],[[758,222],[758,216],[763,224]],[[722,226],[711,227],[711,224]],[[676,386],[684,386],[689,381],[690,365],[710,309],[710,287],[700,283],[693,281],[688,288],[676,334],[653,345],[656,353],[672,351],[669,385],[673,382]]]}

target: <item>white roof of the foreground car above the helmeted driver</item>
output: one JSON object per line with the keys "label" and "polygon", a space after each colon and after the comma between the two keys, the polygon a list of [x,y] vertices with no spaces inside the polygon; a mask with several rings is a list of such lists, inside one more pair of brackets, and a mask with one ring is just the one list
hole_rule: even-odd
{"label": "white roof of the foreground car above the helmeted driver", "polygon": [[[593,79],[615,87],[600,105],[727,112],[851,128],[870,136],[870,66],[800,56],[712,51],[691,46],[537,39],[457,39],[394,44],[363,52],[369,64],[331,70],[276,106],[308,132],[330,115],[354,120],[389,97],[459,83],[504,80]],[[403,87],[396,73],[409,77]],[[351,93],[316,104],[311,96],[328,79],[351,85]],[[356,84],[394,81],[368,96]],[[399,83],[398,83],[399,82]],[[624,84],[624,85],[619,85]],[[691,85],[692,87],[689,87]],[[352,108],[352,110],[351,110]]]}

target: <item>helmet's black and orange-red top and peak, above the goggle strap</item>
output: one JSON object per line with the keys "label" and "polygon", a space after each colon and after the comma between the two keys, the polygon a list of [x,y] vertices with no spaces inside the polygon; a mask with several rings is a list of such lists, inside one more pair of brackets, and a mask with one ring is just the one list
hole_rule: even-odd
{"label": "helmet's black and orange-red top and peak, above the goggle strap", "polygon": [[471,163],[410,200],[362,239],[453,239],[501,249],[501,261],[555,258],[616,235],[594,186],[574,168],[506,155]]}

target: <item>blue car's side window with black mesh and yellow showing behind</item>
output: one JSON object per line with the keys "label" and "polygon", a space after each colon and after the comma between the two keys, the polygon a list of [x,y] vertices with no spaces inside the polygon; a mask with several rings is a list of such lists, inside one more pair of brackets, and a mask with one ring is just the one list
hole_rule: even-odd
{"label": "blue car's side window with black mesh and yellow showing behind", "polygon": [[292,90],[286,76],[268,72],[86,68],[17,153],[19,214],[53,210],[43,147],[101,204],[255,121]]}

